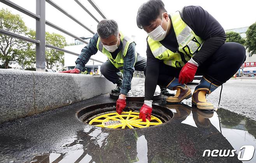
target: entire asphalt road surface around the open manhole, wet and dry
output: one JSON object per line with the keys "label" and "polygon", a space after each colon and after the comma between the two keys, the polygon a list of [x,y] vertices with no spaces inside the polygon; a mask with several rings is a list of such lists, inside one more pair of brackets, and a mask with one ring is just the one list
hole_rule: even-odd
{"label": "entire asphalt road surface around the open manhole, wet and dry", "polygon": [[[198,82],[189,87],[195,88]],[[4,123],[0,125],[0,162],[239,162],[237,154],[207,158],[202,153],[205,149],[238,152],[244,145],[256,147],[255,82],[225,83],[221,108],[214,113],[192,108],[191,99],[182,101],[187,105],[165,105],[160,100],[157,103],[171,109],[174,118],[149,128],[98,128],[78,119],[76,113],[82,108],[115,102],[109,94]],[[219,93],[220,88],[208,97],[215,106]],[[256,156],[251,162],[256,162]]]}

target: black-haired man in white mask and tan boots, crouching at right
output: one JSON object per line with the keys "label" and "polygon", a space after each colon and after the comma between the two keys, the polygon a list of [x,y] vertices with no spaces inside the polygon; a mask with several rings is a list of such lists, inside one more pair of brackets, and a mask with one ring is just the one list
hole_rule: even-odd
{"label": "black-haired man in white mask and tan boots, crouching at right", "polygon": [[[225,43],[222,26],[200,6],[186,6],[169,15],[161,0],[149,0],[137,12],[137,26],[148,34],[143,121],[150,120],[157,84],[177,90],[167,103],[192,96],[198,109],[212,111],[206,95],[230,79],[245,61],[245,48]],[[192,95],[186,83],[195,75],[203,78]]]}

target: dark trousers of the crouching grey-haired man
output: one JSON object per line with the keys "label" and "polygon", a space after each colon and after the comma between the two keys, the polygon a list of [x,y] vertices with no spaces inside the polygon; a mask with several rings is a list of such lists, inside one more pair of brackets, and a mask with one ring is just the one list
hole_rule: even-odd
{"label": "dark trousers of the crouching grey-haired man", "polygon": [[[141,57],[140,55],[137,55],[136,63],[134,65],[135,71],[144,71],[146,64],[147,59]],[[107,78],[107,80],[114,84],[116,84],[116,81],[120,77],[119,75],[117,75],[117,73],[120,72],[120,70],[117,69],[109,60],[107,62],[104,62],[100,66],[100,72],[105,78]]]}

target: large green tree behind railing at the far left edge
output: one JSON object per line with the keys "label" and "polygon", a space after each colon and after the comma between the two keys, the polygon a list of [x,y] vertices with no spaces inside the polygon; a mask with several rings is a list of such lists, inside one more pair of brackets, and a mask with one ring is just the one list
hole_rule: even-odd
{"label": "large green tree behind railing at the far left edge", "polygon": [[[28,31],[21,16],[12,14],[7,9],[0,10],[0,29],[23,36],[26,36]],[[29,44],[11,36],[0,35],[0,61],[4,63],[5,68],[8,68],[10,63],[20,63],[21,56],[25,55]],[[23,61],[25,61],[25,58]]]}

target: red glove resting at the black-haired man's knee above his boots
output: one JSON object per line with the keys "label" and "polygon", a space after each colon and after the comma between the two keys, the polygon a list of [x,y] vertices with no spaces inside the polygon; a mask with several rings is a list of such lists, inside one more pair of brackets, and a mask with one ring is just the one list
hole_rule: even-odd
{"label": "red glove resting at the black-haired man's knee above his boots", "polygon": [[181,69],[179,75],[179,83],[186,84],[192,82],[196,75],[197,66],[192,63],[186,63],[185,66]]}

